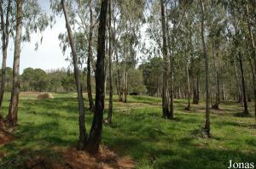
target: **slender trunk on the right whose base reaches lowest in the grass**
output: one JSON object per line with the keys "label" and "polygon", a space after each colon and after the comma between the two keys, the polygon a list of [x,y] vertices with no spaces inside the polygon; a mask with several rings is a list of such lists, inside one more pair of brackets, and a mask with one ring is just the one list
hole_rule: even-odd
{"label": "slender trunk on the right whose base reaches lowest in the grass", "polygon": [[205,42],[205,9],[204,9],[204,0],[201,0],[201,40],[202,47],[205,56],[205,67],[206,67],[206,124],[205,129],[207,131],[207,136],[210,137],[210,95],[209,95],[209,70],[208,70],[208,56],[207,56],[207,47]]}

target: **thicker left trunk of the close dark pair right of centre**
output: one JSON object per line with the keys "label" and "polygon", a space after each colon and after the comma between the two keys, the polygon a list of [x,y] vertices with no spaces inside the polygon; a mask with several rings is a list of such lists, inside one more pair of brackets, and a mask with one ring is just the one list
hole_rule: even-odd
{"label": "thicker left trunk of the close dark pair right of centre", "polygon": [[162,22],[162,31],[163,31],[163,91],[162,91],[162,109],[163,109],[163,117],[164,118],[172,118],[170,114],[170,110],[168,107],[168,83],[167,83],[167,71],[168,71],[168,59],[167,59],[167,46],[166,46],[166,14],[165,14],[165,6],[164,0],[160,0],[161,6],[161,22]]}

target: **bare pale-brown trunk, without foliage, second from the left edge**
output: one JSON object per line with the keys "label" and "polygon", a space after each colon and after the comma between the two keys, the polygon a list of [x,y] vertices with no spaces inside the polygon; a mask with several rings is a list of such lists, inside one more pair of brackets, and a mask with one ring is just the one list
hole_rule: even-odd
{"label": "bare pale-brown trunk, without foliage, second from the left edge", "polygon": [[20,94],[20,43],[22,33],[22,3],[23,0],[17,0],[17,20],[16,20],[16,36],[15,36],[15,55],[13,65],[13,89],[11,93],[11,99],[9,104],[9,113],[7,115],[7,123],[15,127],[18,121],[18,105]]}

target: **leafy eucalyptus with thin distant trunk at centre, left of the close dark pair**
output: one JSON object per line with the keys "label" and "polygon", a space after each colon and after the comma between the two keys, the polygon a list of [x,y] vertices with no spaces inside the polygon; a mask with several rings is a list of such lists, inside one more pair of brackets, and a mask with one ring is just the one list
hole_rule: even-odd
{"label": "leafy eucalyptus with thin distant trunk at centre, left of the close dark pair", "polygon": [[119,42],[119,54],[123,55],[119,65],[123,65],[123,101],[127,102],[128,70],[137,64],[137,50],[140,48],[139,39],[141,37],[140,26],[143,21],[146,2],[132,0],[116,1],[116,3],[119,8],[119,22],[116,22],[119,28],[119,36],[115,42]]}

